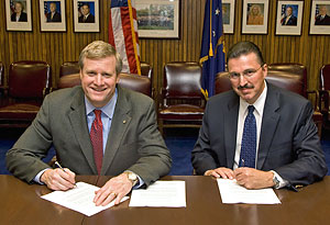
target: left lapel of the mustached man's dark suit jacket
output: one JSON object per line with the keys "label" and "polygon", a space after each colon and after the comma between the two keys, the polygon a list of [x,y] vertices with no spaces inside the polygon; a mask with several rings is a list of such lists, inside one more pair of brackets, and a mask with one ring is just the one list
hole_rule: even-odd
{"label": "left lapel of the mustached man's dark suit jacket", "polygon": [[238,116],[239,116],[239,97],[233,92],[231,101],[228,103],[224,112],[224,146],[227,155],[227,167],[233,168],[234,155],[237,149]]}

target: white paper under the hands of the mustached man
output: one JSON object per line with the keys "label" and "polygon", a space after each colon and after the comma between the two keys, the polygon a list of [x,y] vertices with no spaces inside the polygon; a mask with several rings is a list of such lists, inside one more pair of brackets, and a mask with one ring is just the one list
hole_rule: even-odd
{"label": "white paper under the hands of the mustached man", "polygon": [[217,179],[222,203],[280,204],[273,189],[249,190],[237,180]]}

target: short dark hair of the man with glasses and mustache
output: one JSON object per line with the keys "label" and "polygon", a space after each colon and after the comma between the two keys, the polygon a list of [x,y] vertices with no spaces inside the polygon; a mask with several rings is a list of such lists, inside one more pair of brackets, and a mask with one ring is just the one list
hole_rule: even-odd
{"label": "short dark hair of the man with glasses and mustache", "polygon": [[227,54],[227,64],[231,58],[239,58],[242,55],[248,55],[250,53],[254,53],[260,65],[264,65],[264,58],[260,50],[260,48],[252,42],[239,42],[234,44]]}

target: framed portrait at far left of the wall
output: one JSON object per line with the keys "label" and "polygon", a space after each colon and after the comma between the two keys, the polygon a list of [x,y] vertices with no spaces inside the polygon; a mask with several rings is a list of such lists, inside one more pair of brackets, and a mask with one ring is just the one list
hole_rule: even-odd
{"label": "framed portrait at far left of the wall", "polygon": [[6,0],[7,31],[32,31],[31,0]]}

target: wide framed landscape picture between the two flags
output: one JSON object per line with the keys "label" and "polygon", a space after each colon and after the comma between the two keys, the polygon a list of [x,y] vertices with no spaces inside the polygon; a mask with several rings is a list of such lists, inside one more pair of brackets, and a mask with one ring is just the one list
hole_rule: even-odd
{"label": "wide framed landscape picture between the two flags", "polygon": [[179,0],[135,1],[139,37],[179,38]]}

